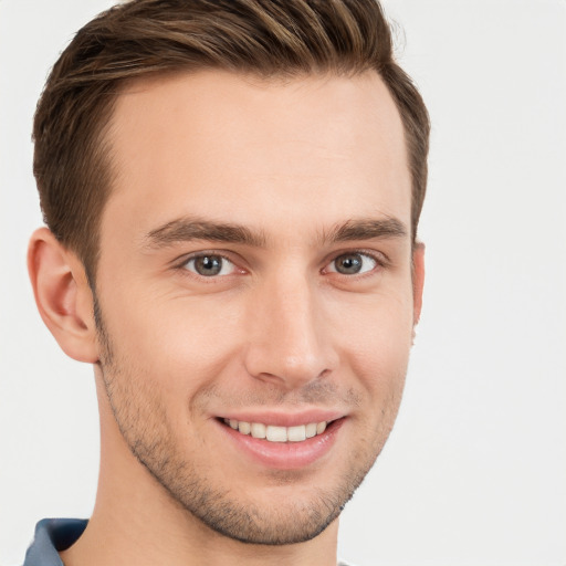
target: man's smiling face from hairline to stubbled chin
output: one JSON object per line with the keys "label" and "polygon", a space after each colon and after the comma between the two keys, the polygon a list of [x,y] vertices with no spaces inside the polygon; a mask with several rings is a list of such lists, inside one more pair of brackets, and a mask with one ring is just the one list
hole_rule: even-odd
{"label": "man's smiling face from hairline to stubbled chin", "polygon": [[407,369],[410,176],[390,95],[375,73],[178,75],[120,95],[111,140],[96,294],[124,439],[217,532],[312,538],[381,450]]}

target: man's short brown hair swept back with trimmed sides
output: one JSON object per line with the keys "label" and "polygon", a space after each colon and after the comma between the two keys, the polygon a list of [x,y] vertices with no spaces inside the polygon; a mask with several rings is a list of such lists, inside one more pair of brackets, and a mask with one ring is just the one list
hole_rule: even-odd
{"label": "man's short brown hair swept back with trimmed sides", "polygon": [[130,0],[82,28],[38,103],[34,174],[43,217],[94,284],[98,230],[113,175],[106,128],[126,82],[222,69],[261,77],[375,70],[402,119],[415,240],[427,186],[429,117],[396,64],[377,0]]}

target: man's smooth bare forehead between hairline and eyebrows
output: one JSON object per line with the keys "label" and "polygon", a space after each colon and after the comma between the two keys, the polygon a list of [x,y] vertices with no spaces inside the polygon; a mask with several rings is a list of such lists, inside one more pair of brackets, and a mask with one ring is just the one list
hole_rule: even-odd
{"label": "man's smooth bare forehead between hairline and eyebrows", "polygon": [[[409,224],[402,124],[375,72],[260,80],[205,71],[136,82],[111,127],[103,214],[147,231],[182,214],[294,228],[389,216]],[[135,226],[134,226],[135,222]],[[289,224],[289,222],[287,222]]]}

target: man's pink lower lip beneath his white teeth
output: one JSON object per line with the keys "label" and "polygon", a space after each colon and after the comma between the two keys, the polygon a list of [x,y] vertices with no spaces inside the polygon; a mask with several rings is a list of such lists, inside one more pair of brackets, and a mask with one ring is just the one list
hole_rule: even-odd
{"label": "man's pink lower lip beneath his white teeth", "polygon": [[335,420],[322,434],[302,442],[270,442],[250,434],[242,434],[220,421],[217,423],[230,440],[235,442],[240,453],[249,455],[266,468],[298,470],[314,464],[331,451],[344,421],[344,418]]}

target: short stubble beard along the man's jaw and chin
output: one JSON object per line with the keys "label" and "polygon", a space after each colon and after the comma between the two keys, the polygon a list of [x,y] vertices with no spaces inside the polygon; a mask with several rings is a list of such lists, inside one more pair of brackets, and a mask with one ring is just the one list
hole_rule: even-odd
{"label": "short stubble beard along the man's jaw and chin", "polygon": [[[213,485],[206,469],[184,459],[175,446],[167,426],[167,411],[159,391],[133,387],[137,375],[128,360],[115,354],[95,298],[95,319],[102,346],[99,369],[114,418],[135,458],[166,491],[175,505],[180,506],[209,528],[234,541],[259,545],[289,545],[310,541],[333,523],[352,499],[381,451],[397,415],[399,399],[389,403],[391,415],[380,421],[371,442],[360,442],[363,449],[349,454],[349,463],[332,486],[308,492],[308,499],[289,501],[285,505],[260,505],[241,501],[231,489],[227,467],[224,485]],[[127,369],[129,368],[129,370]],[[402,386],[401,386],[402,390]],[[386,417],[384,415],[384,417]],[[369,449],[368,449],[369,448]],[[300,474],[276,472],[272,481],[284,485]]]}

